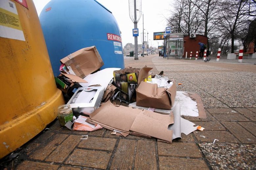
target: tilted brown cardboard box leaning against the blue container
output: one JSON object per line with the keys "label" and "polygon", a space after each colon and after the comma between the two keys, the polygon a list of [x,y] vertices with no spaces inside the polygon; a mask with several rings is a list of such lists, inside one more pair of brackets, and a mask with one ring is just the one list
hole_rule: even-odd
{"label": "tilted brown cardboard box leaning against the blue container", "polygon": [[104,65],[103,60],[95,46],[82,48],[60,60],[65,64],[70,74],[80,78],[91,74]]}

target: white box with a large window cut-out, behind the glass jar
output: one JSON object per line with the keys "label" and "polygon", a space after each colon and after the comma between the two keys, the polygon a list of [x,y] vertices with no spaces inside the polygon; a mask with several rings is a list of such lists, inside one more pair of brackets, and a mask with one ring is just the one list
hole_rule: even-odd
{"label": "white box with a large window cut-out, behind the glass jar", "polygon": [[73,114],[90,115],[100,107],[104,94],[104,87],[79,87],[67,104],[70,104]]}

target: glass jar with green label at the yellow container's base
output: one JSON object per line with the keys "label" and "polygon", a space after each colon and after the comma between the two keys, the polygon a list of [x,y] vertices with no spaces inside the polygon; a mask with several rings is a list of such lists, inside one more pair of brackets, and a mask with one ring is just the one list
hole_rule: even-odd
{"label": "glass jar with green label at the yellow container's base", "polygon": [[73,111],[69,104],[58,106],[58,120],[59,124],[63,127],[68,121],[72,121]]}

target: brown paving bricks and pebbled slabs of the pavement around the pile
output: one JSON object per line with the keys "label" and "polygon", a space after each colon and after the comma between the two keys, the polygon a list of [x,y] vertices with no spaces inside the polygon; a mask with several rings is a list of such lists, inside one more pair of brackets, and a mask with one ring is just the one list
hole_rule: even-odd
{"label": "brown paving bricks and pebbled slabs of the pavement around the pile", "polygon": [[[208,63],[157,55],[125,57],[125,65],[152,67],[175,78],[178,91],[201,95],[207,119],[185,117],[205,131],[168,144],[155,138],[111,135],[106,129],[71,131],[58,120],[1,160],[9,169],[255,169],[256,62]],[[88,135],[87,140],[80,140]],[[215,143],[214,140],[217,139]],[[13,156],[14,157],[14,156]]]}

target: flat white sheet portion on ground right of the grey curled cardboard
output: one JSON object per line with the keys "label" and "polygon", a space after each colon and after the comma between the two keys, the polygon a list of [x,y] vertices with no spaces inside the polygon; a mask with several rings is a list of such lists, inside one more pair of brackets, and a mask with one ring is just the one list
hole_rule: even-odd
{"label": "flat white sheet portion on ground right of the grey curled cardboard", "polygon": [[197,102],[192,100],[190,97],[185,96],[184,91],[177,91],[173,108],[177,104],[180,104],[180,115],[197,117],[198,107]]}

